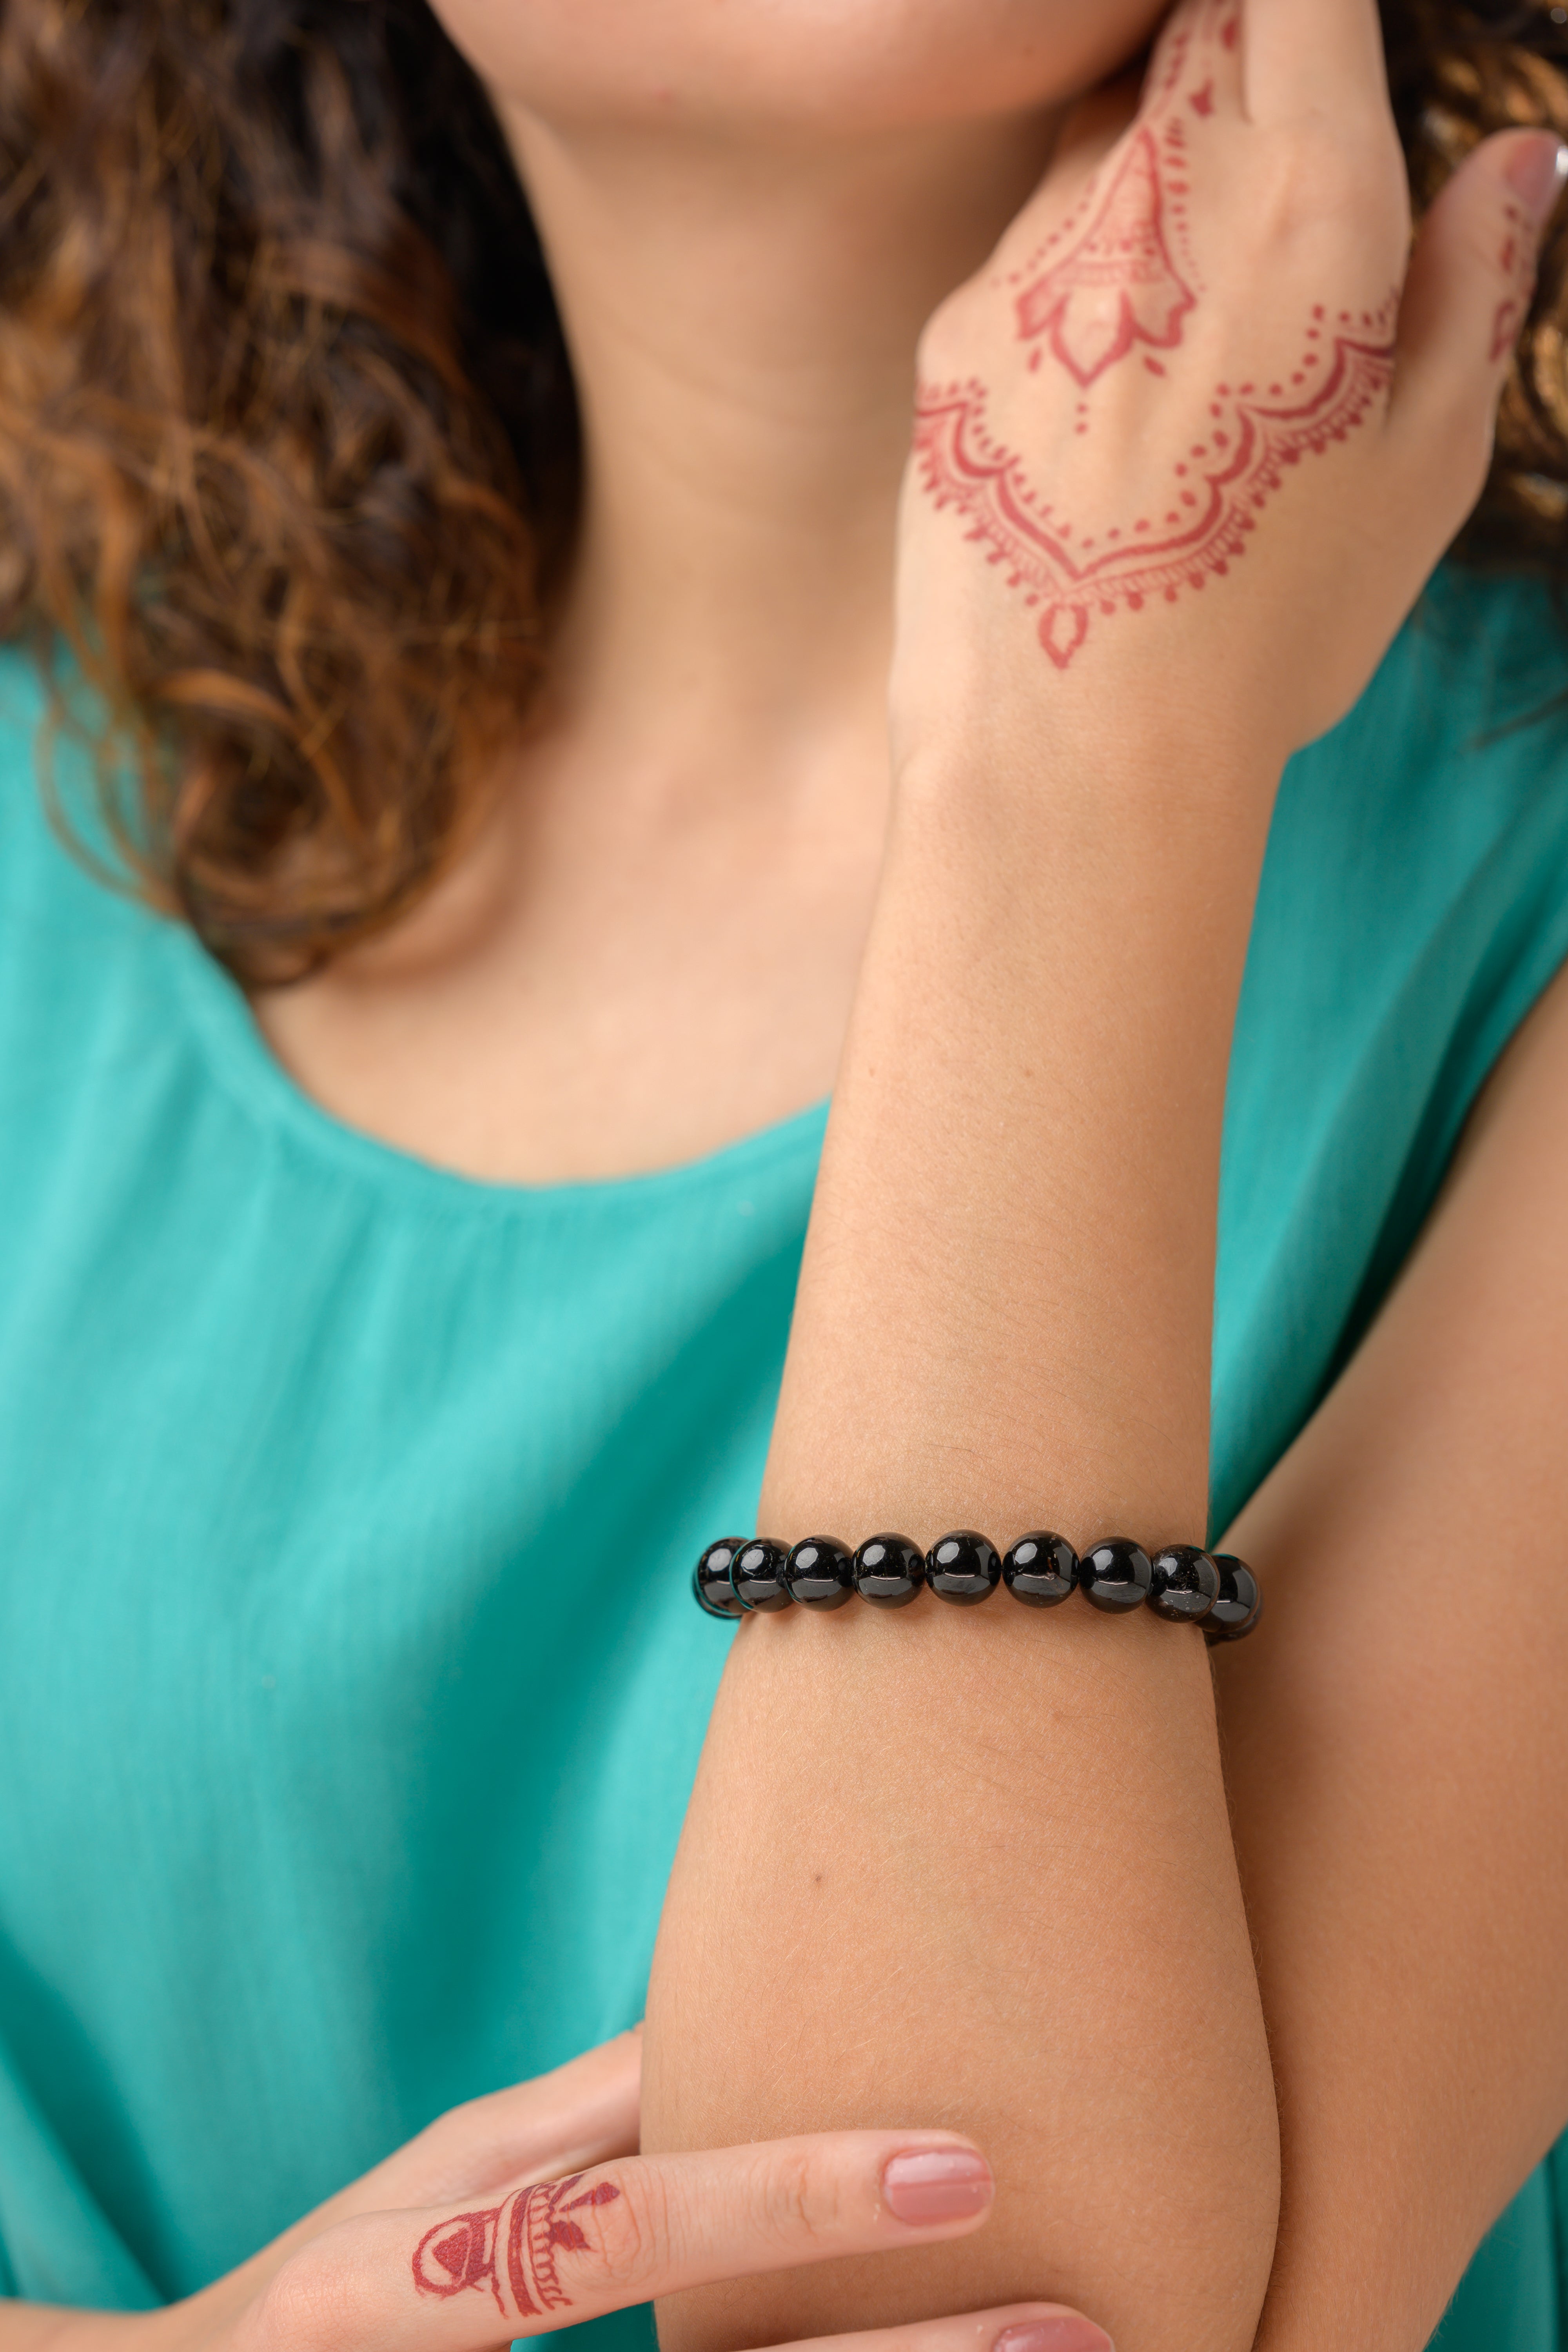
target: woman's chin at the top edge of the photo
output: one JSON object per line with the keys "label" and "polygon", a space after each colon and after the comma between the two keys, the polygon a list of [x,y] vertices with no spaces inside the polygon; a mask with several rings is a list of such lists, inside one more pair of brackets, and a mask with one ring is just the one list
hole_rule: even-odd
{"label": "woman's chin at the top edge of the photo", "polygon": [[1164,0],[435,0],[503,106],[562,129],[858,134],[1032,113]]}

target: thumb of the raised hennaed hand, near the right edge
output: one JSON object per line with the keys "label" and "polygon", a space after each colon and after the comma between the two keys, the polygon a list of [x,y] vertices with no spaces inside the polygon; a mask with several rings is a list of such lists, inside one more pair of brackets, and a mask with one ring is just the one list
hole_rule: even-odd
{"label": "thumb of the raised hennaed hand, near the right edge", "polygon": [[1427,212],[1399,308],[1389,423],[1450,440],[1481,492],[1497,393],[1535,287],[1535,259],[1563,181],[1556,132],[1497,132],[1465,158]]}

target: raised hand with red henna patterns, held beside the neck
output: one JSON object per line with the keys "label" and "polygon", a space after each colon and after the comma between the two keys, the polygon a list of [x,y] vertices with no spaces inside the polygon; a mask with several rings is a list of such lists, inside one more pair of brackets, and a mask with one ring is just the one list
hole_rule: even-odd
{"label": "raised hand with red henna patterns, held beside the neck", "polygon": [[1410,254],[1373,0],[1182,0],[926,329],[900,734],[954,640],[1281,757],[1331,727],[1481,492],[1559,188],[1552,134],[1488,139]]}

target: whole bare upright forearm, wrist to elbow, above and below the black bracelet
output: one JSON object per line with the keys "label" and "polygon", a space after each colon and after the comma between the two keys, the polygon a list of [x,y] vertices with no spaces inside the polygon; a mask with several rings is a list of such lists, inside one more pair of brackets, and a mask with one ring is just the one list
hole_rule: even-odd
{"label": "whole bare upright forearm, wrist to elbow, above and below the black bracelet", "polygon": [[[1201,1536],[1267,779],[1171,739],[1093,771],[1063,750],[1044,786],[1006,762],[987,746],[954,797],[922,779],[893,828],[769,1531]],[[644,2129],[872,2117],[973,2133],[987,2230],[900,2272],[693,2298],[672,2343],[1051,2293],[1119,2352],[1251,2345],[1274,2110],[1197,1637],[933,1599],[743,1630],[661,1936]]]}

